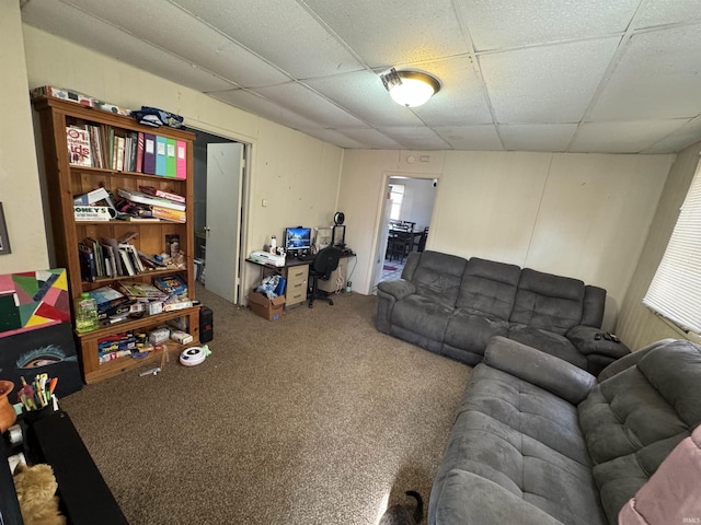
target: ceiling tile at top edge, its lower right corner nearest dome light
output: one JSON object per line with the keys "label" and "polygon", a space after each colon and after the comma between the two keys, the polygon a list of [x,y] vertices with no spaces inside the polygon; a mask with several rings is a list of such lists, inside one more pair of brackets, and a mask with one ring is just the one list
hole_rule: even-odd
{"label": "ceiling tile at top edge, its lower right corner nearest dome light", "polygon": [[296,79],[363,69],[295,0],[172,0]]}

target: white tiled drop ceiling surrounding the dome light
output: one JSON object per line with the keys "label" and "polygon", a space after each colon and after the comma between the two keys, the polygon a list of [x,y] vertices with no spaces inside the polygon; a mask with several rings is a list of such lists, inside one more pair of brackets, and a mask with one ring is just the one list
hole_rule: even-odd
{"label": "white tiled drop ceiling surrounding the dome light", "polygon": [[[701,140],[698,0],[27,0],[22,19],[342,148]],[[391,67],[441,90],[399,106],[379,78]]]}

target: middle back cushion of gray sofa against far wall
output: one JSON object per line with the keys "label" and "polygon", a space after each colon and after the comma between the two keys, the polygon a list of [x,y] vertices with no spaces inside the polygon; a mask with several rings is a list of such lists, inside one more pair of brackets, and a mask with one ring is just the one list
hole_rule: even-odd
{"label": "middle back cushion of gray sofa against far wall", "polygon": [[462,277],[456,306],[507,320],[520,275],[518,266],[472,257]]}

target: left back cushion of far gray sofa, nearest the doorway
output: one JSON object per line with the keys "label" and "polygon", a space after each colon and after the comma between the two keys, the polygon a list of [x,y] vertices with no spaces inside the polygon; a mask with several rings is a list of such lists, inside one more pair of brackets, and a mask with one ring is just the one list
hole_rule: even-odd
{"label": "left back cushion of far gray sofa, nearest the doorway", "polygon": [[424,252],[412,276],[416,293],[444,306],[455,307],[467,259],[438,252]]}

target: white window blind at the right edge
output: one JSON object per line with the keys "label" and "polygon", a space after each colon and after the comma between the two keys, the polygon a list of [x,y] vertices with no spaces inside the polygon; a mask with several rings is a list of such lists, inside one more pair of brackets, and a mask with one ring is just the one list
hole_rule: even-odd
{"label": "white window blind at the right edge", "polygon": [[701,334],[701,162],[643,304]]}

